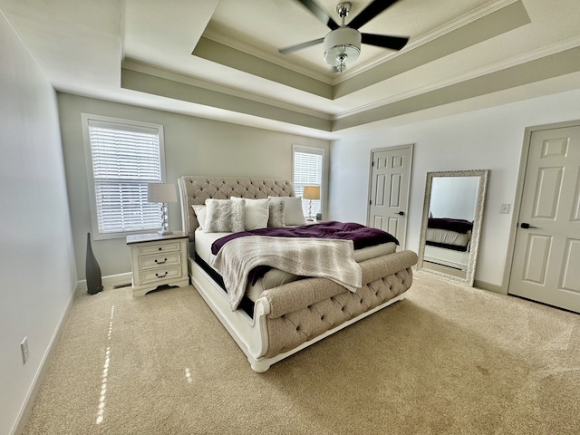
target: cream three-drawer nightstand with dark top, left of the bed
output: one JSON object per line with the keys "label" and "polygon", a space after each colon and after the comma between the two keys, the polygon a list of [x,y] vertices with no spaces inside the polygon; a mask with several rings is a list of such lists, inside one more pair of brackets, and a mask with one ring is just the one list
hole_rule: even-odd
{"label": "cream three-drawer nightstand with dark top, left of the bed", "polygon": [[142,296],[160,285],[189,285],[188,236],[171,234],[127,236],[131,247],[133,296]]}

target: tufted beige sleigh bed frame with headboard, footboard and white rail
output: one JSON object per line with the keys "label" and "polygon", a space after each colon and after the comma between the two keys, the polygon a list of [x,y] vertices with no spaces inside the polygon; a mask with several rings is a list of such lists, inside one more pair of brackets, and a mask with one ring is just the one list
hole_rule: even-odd
{"label": "tufted beige sleigh bed frame with headboard, footboard and white rail", "polygon": [[266,372],[273,363],[403,299],[411,286],[417,255],[401,251],[360,263],[362,288],[355,293],[328,279],[305,278],[263,292],[253,316],[241,309],[232,311],[225,291],[194,259],[198,220],[191,206],[208,198],[294,196],[292,184],[285,179],[201,176],[184,176],[178,182],[183,230],[189,236],[191,283],[255,372]]}

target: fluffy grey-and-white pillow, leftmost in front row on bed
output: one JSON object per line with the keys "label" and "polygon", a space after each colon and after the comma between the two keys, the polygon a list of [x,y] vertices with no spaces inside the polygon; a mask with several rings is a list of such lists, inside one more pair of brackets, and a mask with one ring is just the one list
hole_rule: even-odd
{"label": "fluffy grey-and-white pillow, leftmost in front row on bed", "polygon": [[206,233],[244,231],[244,199],[206,199]]}

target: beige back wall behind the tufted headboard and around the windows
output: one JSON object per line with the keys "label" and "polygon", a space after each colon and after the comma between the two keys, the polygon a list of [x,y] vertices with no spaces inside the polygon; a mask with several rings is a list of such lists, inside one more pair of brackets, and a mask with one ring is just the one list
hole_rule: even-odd
{"label": "beige back wall behind the tufted headboard and around the windows", "polygon": [[[92,231],[89,186],[82,141],[82,112],[162,124],[168,181],[175,181],[182,175],[291,179],[293,144],[323,148],[325,155],[329,156],[330,142],[327,140],[104,102],[66,93],[58,94],[58,102],[71,203],[74,251],[80,279],[84,278],[86,234]],[[325,174],[327,173],[328,170],[325,169]],[[181,229],[179,204],[169,205],[169,228]],[[92,247],[101,266],[102,275],[117,275],[131,271],[130,250],[124,238],[98,240]]]}

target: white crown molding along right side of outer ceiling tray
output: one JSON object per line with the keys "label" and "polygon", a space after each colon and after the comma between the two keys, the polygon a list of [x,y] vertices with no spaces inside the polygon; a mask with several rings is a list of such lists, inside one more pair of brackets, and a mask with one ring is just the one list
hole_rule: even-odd
{"label": "white crown molding along right side of outer ceiling tray", "polygon": [[564,41],[562,43],[553,43],[551,45],[548,45],[546,47],[541,47],[541,48],[534,50],[532,52],[524,53],[524,54],[521,54],[517,57],[509,58],[505,61],[488,64],[483,68],[479,68],[478,70],[475,70],[475,71],[472,71],[469,73],[454,76],[453,78],[451,78],[447,81],[432,83],[432,84],[426,85],[426,86],[418,86],[418,87],[411,89],[409,91],[406,91],[406,92],[400,92],[397,94],[393,94],[390,97],[384,98],[380,101],[372,102],[370,104],[365,104],[365,105],[353,108],[352,110],[349,110],[349,111],[343,111],[341,113],[337,113],[333,116],[333,121],[347,118],[347,117],[355,115],[357,113],[371,111],[373,109],[382,107],[386,104],[391,104],[393,102],[407,100],[409,98],[415,97],[415,96],[423,94],[423,93],[428,93],[428,92],[435,91],[435,90],[440,89],[440,88],[452,86],[452,85],[457,84],[459,82],[466,82],[468,80],[475,79],[477,77],[481,77],[484,75],[488,75],[490,73],[495,73],[495,72],[498,72],[500,70],[505,70],[507,68],[511,68],[513,66],[517,66],[517,65],[522,64],[522,63],[529,63],[529,62],[535,61],[536,59],[541,59],[543,57],[549,56],[551,54],[564,52],[564,51],[569,50],[571,48],[575,48],[579,45],[580,45],[580,36],[568,39],[567,41]]}

